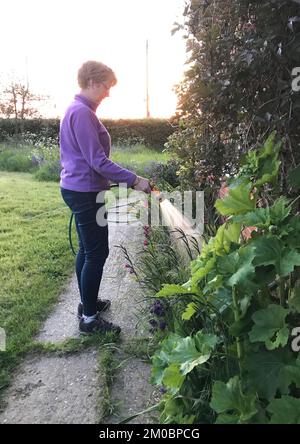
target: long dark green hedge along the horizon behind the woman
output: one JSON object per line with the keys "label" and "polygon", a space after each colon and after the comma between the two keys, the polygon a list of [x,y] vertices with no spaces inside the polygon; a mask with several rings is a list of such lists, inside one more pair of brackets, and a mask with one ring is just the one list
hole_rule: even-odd
{"label": "long dark green hedge along the horizon behind the woman", "polygon": [[[174,127],[167,119],[103,119],[114,145],[143,143],[149,147],[163,149]],[[0,119],[0,142],[19,136],[28,143],[50,140],[58,144],[59,119]]]}

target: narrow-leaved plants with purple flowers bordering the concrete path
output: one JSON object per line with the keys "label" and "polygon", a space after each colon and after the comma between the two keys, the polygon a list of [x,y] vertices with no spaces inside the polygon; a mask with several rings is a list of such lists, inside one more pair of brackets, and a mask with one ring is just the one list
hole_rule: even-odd
{"label": "narrow-leaved plants with purple flowers bordering the concrete path", "polygon": [[[178,312],[178,304],[184,309],[184,302],[174,298],[172,301],[164,298],[163,292],[159,299],[153,295],[162,287],[175,285],[188,279],[189,270],[182,260],[169,230],[164,226],[144,226],[144,241],[141,251],[133,261],[124,246],[122,248],[126,264],[125,268],[133,275],[144,291],[144,300],[147,304],[140,307],[140,329],[143,329],[144,321],[149,325],[149,332],[157,341],[167,333],[167,326],[174,328],[180,322],[181,314]],[[183,244],[184,246],[184,244]],[[196,249],[195,249],[196,251]],[[196,253],[191,248],[187,249],[190,259],[195,258]],[[199,250],[198,250],[199,251]],[[187,290],[184,290],[187,293]],[[145,307],[145,308],[144,308]],[[184,331],[184,330],[183,330]]]}

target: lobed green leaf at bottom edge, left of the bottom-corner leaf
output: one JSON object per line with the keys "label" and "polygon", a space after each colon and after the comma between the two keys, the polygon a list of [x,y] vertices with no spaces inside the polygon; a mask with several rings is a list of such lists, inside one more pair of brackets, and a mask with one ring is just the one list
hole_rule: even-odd
{"label": "lobed green leaf at bottom edge, left of the bottom-corner leaf", "polygon": [[219,414],[217,423],[221,424],[245,424],[257,413],[255,395],[243,394],[238,376],[227,384],[214,383],[210,406]]}

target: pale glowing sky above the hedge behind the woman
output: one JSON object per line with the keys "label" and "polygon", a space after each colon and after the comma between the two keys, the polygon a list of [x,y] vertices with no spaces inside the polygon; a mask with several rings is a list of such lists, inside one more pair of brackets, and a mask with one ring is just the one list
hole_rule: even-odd
{"label": "pale glowing sky above the hedge behind the woman", "polygon": [[41,112],[62,117],[79,92],[77,71],[98,60],[118,79],[98,108],[103,118],[146,116],[146,40],[151,117],[176,110],[175,84],[186,69],[182,32],[185,0],[0,0],[0,77],[28,77],[36,94],[50,96]]}

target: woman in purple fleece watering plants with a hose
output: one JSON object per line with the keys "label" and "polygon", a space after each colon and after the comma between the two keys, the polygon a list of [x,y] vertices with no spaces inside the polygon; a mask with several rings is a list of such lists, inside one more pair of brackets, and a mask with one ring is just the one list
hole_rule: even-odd
{"label": "woman in purple fleece watering plants with a hose", "polygon": [[[97,299],[109,247],[107,224],[96,221],[97,211],[105,204],[97,203],[96,196],[109,189],[109,180],[151,192],[147,179],[109,160],[110,136],[95,112],[116,83],[114,72],[103,63],[84,63],[78,71],[80,93],[75,95],[60,126],[61,194],[74,214],[79,241],[76,275],[81,333],[120,332],[120,327],[99,315],[110,306],[110,301]],[[107,217],[105,211],[104,214]]]}

